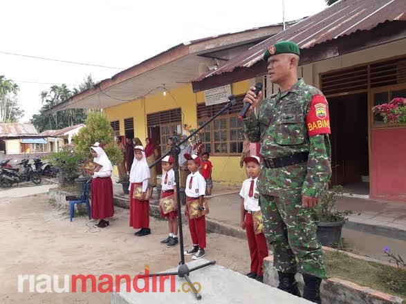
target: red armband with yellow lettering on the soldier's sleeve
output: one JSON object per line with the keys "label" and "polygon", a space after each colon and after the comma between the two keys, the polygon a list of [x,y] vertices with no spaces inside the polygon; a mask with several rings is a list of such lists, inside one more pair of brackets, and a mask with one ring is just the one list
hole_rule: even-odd
{"label": "red armband with yellow lettering on the soldier's sleeve", "polygon": [[306,126],[309,136],[331,134],[329,104],[324,95],[313,95],[310,111],[306,117]]}

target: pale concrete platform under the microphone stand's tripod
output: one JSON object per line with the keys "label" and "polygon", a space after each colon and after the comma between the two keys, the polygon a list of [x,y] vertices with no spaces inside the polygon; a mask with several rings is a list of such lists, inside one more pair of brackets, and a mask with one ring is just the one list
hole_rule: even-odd
{"label": "pale concrete platform under the microphone stand's tripod", "polygon": [[[189,268],[196,267],[207,263],[207,260],[200,259],[187,263]],[[167,269],[167,272],[176,272],[177,267]],[[159,292],[159,279],[156,285],[158,292],[151,292],[152,278],[149,278],[149,292],[123,292],[126,290],[125,283],[120,285],[121,292],[113,292],[111,294],[112,304],[140,304],[140,303],[176,303],[176,304],[191,304],[191,303],[266,303],[266,304],[304,304],[311,303],[303,298],[297,298],[286,292],[282,292],[277,288],[270,287],[263,283],[259,283],[252,278],[248,278],[238,272],[233,272],[230,269],[220,265],[210,265],[202,269],[198,269],[190,273],[192,283],[199,283],[201,286],[202,299],[196,299],[192,292],[187,291],[189,286],[183,278],[175,276],[173,282],[167,280],[163,283],[164,292]],[[171,285],[172,287],[171,292]],[[199,285],[195,285],[198,287]],[[145,287],[145,282],[140,280],[138,287]],[[184,291],[183,291],[184,290]]]}

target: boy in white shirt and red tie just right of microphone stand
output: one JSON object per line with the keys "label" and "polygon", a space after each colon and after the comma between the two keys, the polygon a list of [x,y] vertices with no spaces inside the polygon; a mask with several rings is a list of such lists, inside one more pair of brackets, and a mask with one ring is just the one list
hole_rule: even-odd
{"label": "boy in white shirt and red tie just right of microphone stand", "polygon": [[186,179],[186,207],[185,216],[189,216],[189,229],[190,235],[192,236],[193,247],[190,250],[184,251],[185,256],[192,256],[192,259],[196,260],[202,258],[205,255],[206,247],[206,220],[205,216],[200,216],[199,218],[191,218],[188,213],[187,206],[190,202],[194,200],[199,200],[200,208],[203,208],[203,198],[206,191],[206,181],[205,178],[199,173],[199,167],[201,165],[201,160],[197,155],[185,154],[187,160],[187,169],[189,169],[190,174],[187,175]]}

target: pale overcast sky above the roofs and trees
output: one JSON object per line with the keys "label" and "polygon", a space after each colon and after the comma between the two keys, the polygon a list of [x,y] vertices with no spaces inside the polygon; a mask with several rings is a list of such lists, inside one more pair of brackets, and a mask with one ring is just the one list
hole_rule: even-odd
{"label": "pale overcast sky above the roofs and trees", "polygon": [[[286,21],[326,8],[324,0],[284,0],[284,6]],[[73,88],[89,74],[98,82],[177,44],[282,20],[282,0],[1,1],[0,75],[19,85],[26,111],[20,122],[28,122],[41,108],[39,93],[52,84]]]}

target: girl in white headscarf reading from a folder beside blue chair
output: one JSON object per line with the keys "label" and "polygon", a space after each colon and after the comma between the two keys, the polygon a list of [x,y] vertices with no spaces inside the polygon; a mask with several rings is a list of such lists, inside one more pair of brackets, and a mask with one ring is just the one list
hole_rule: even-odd
{"label": "girl in white headscarf reading from a folder beside blue chair", "polygon": [[87,171],[93,175],[91,181],[91,217],[99,220],[95,227],[104,228],[109,226],[109,221],[105,219],[114,214],[113,183],[110,178],[113,166],[102,149],[102,144],[96,142],[90,147],[90,151],[93,155],[93,162],[102,165],[98,172]]}

